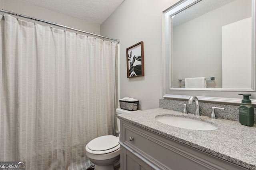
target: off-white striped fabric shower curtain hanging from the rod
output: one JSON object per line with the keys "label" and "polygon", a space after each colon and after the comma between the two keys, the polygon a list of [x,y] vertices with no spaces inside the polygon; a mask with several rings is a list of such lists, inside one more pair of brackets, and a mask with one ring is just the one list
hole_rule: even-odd
{"label": "off-white striped fabric shower curtain hanging from the rod", "polygon": [[0,17],[0,161],[86,169],[113,133],[117,43]]}

